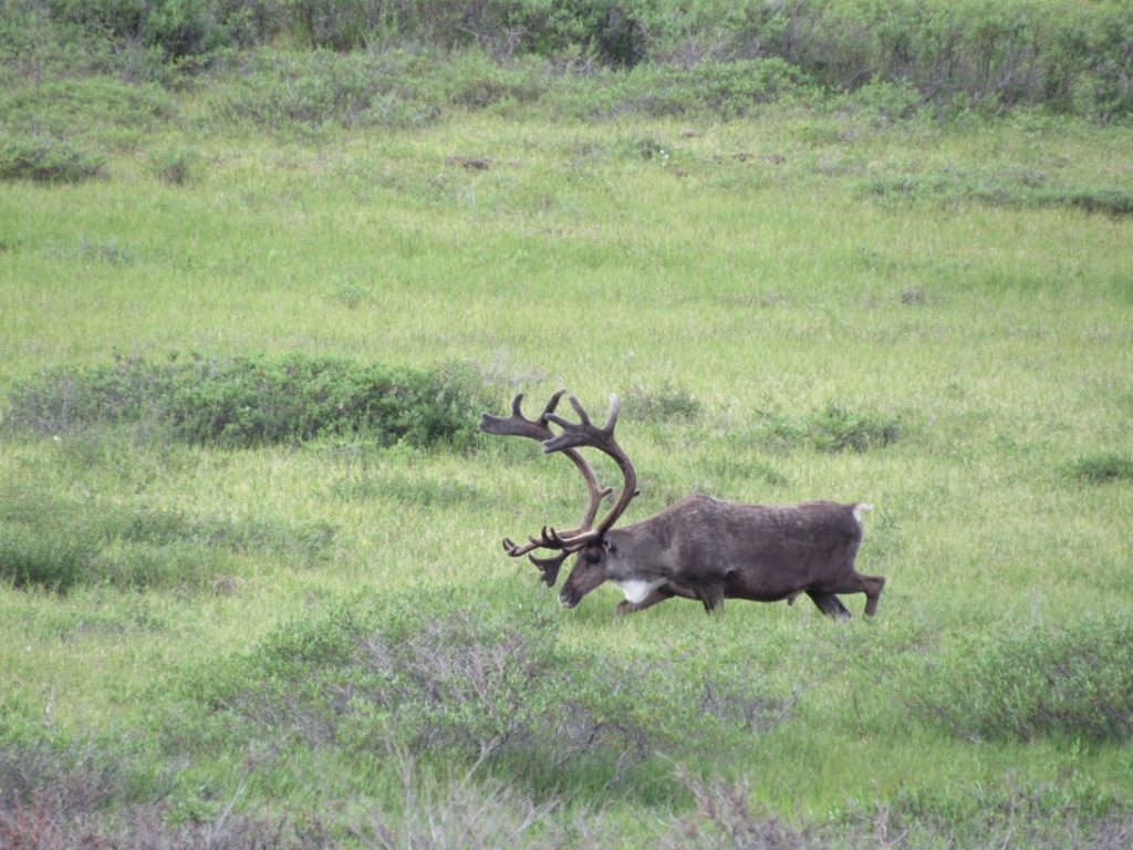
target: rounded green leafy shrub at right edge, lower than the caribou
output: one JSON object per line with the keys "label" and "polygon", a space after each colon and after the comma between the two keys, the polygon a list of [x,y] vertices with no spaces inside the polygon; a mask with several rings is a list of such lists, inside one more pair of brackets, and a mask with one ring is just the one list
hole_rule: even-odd
{"label": "rounded green leafy shrub at right edge, lower than the caribou", "polygon": [[971,739],[1121,741],[1133,736],[1133,624],[1000,636],[935,670],[921,714]]}

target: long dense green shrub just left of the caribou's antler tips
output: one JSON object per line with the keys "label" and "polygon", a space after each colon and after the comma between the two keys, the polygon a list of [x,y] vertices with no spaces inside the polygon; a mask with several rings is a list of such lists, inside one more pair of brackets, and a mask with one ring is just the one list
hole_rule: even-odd
{"label": "long dense green shrub just left of the caribou's antler tips", "polygon": [[63,367],[17,384],[8,427],[42,435],[105,425],[165,428],[232,448],[318,436],[467,444],[494,399],[470,368],[427,372],[290,355]]}

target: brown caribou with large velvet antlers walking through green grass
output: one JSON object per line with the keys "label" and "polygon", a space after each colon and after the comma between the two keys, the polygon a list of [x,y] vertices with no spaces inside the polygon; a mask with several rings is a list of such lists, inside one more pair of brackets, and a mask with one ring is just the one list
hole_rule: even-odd
{"label": "brown caribou with large velvet antlers walking through green grass", "polygon": [[[564,393],[554,393],[535,419],[522,414],[523,393],[512,400],[510,417],[480,416],[482,431],[537,440],[545,453],[561,452],[582,475],[587,503],[577,528],[557,532],[544,526],[527,543],[503,539],[504,551],[512,558],[527,555],[548,587],[554,587],[566,558],[576,555],[559,594],[564,606],[574,607],[596,587],[613,581],[625,597],[615,615],[644,611],[674,596],[698,600],[712,613],[722,610],[725,598],[793,604],[807,594],[827,617],[847,619],[850,611],[837,595],[855,593],[866,594],[867,615],[877,612],[885,578],[854,569],[861,513],[871,505],[830,501],[738,504],[696,494],[640,522],[615,528],[640,494],[633,464],[614,439],[619,398],[610,397],[606,424],[598,427],[573,396],[569,401],[578,422],[555,414]],[[552,425],[559,427],[557,433]],[[597,525],[602,502],[613,490],[598,485],[594,469],[578,451],[583,448],[612,458],[623,479],[617,499]],[[537,550],[553,554],[537,558],[533,554]]]}

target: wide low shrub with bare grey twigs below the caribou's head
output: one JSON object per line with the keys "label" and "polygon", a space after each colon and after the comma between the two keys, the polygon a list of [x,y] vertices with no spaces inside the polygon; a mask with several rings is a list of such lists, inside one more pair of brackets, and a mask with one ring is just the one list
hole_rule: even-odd
{"label": "wide low shrub with bare grey twigs below the caribou's head", "polygon": [[[727,664],[564,649],[561,621],[437,594],[390,597],[269,637],[202,683],[214,713],[250,736],[480,765],[539,796],[651,796],[672,787],[656,753],[681,756],[785,720],[780,698]],[[750,672],[750,671],[748,671]]]}

